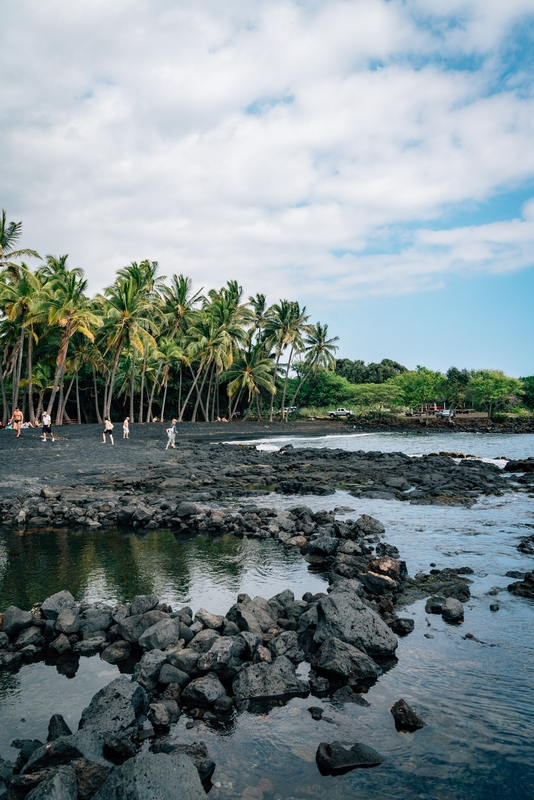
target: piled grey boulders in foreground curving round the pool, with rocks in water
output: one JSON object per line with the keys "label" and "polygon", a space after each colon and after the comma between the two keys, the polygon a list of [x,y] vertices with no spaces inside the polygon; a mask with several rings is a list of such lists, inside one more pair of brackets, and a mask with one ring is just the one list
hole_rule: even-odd
{"label": "piled grey boulders in foreground curving round the pool, with rocks in water", "polygon": [[[47,743],[14,743],[16,762],[0,763],[3,800],[107,800],[122,796],[119,785],[128,787],[128,798],[204,796],[215,764],[204,742],[185,744],[170,733],[181,714],[189,717],[188,726],[202,719],[221,728],[245,709],[264,711],[292,696],[334,696],[365,705],[366,688],[395,663],[396,635],[413,630],[413,619],[395,611],[403,600],[411,602],[410,592],[424,596],[439,588],[443,594],[431,598],[428,613],[441,613],[451,624],[463,619],[469,581],[458,574],[462,570],[410,578],[372,517],[339,521],[332,512],[313,513],[306,506],[247,513],[256,518],[250,519],[253,534],[299,548],[311,569],[328,571],[328,593],[306,593],[300,600],[289,589],[269,599],[239,595],[224,616],[173,610],[152,595],[114,607],[76,603],[66,591],[31,611],[6,609],[0,631],[4,668],[46,660],[76,669],[80,657],[100,653],[123,674],[93,697],[76,733],[56,714]],[[215,530],[220,532],[210,532]],[[307,675],[297,672],[302,662],[309,664]],[[310,713],[320,709],[311,706]],[[392,714],[394,724],[406,730],[424,724],[404,701]],[[323,774],[381,761],[362,743],[349,750],[339,742],[318,743]],[[169,774],[175,775],[172,786]]]}

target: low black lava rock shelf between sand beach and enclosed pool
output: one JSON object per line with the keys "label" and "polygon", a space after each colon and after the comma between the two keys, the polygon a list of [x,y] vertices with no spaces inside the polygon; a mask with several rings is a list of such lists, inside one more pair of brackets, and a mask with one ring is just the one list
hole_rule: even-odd
{"label": "low black lava rock shelf between sand beach and enclosed pool", "polygon": [[165,463],[96,473],[78,470],[68,484],[42,480],[23,494],[20,480],[14,486],[5,481],[0,487],[0,525],[22,530],[171,528],[179,533],[226,530],[250,535],[265,527],[257,515],[231,515],[218,506],[234,497],[271,492],[330,495],[339,488],[356,498],[471,505],[481,496],[507,490],[532,492],[531,466],[531,460],[510,462],[503,471],[454,452],[410,457],[291,445],[261,452],[253,446],[182,444]]}

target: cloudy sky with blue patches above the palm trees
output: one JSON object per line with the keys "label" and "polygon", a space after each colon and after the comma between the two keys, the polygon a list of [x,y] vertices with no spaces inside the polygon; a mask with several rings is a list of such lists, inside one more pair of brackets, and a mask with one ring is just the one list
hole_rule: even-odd
{"label": "cloudy sky with blue patches above the palm trees", "polygon": [[532,0],[17,0],[0,206],[306,305],[339,356],[534,373]]}

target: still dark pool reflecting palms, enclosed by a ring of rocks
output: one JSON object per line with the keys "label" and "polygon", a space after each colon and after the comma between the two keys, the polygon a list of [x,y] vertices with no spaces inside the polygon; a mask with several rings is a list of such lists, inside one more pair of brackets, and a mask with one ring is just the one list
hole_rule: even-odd
{"label": "still dark pool reflecting palms, enclosed by a ring of rocks", "polygon": [[255,595],[265,589],[272,595],[292,585],[301,596],[310,582],[322,586],[320,578],[308,576],[299,553],[232,535],[2,531],[0,553],[2,609],[11,604],[29,609],[68,589],[77,600],[117,603],[155,593],[171,605],[193,603],[224,612],[241,591]]}

